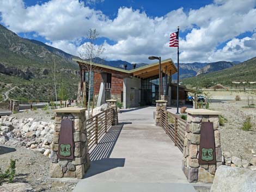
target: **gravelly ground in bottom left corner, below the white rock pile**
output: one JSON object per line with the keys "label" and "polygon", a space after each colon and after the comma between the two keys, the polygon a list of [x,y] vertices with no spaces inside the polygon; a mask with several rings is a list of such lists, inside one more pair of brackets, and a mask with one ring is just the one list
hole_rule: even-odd
{"label": "gravelly ground in bottom left corner, below the white rock pile", "polygon": [[49,180],[50,159],[43,154],[27,148],[11,148],[6,145],[1,145],[0,149],[2,171],[8,168],[11,158],[17,159],[15,183],[29,183],[34,191],[69,192],[75,187],[74,183]]}

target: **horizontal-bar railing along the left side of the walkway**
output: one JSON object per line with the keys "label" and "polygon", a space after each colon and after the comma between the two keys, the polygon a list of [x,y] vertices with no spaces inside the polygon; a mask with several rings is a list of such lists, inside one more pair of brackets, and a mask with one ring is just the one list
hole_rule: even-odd
{"label": "horizontal-bar railing along the left side of the walkway", "polygon": [[103,134],[107,133],[113,122],[113,108],[96,114],[86,120],[87,140],[89,150],[98,144]]}

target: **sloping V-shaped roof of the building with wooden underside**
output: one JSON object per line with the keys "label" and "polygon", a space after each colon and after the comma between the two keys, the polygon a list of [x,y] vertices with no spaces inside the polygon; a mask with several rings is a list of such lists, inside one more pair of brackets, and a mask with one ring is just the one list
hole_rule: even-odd
{"label": "sloping V-shaped roof of the building with wooden underside", "polygon": [[[73,60],[76,61],[79,65],[89,65],[89,62],[87,63],[84,60],[79,60],[79,59],[73,59]],[[121,73],[126,73],[129,75],[138,77],[138,78],[148,78],[148,77],[152,77],[152,76],[159,74],[159,62],[145,65],[142,67],[138,67],[138,68],[132,69],[132,70],[124,70],[124,69],[120,69],[117,67],[97,64],[97,63],[93,63],[93,62],[92,62],[92,65],[99,67],[100,69],[107,69],[107,70],[113,70],[113,71],[117,71],[117,72],[121,72]],[[174,65],[172,59],[166,59],[166,60],[161,61],[161,68],[163,70],[163,73],[165,73],[165,71],[167,71],[167,74],[169,74],[169,73],[174,74],[178,71],[176,66]]]}

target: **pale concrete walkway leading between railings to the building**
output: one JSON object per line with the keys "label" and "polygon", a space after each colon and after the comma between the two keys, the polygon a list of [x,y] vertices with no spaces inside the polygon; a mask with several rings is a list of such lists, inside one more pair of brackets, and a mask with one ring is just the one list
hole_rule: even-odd
{"label": "pale concrete walkway leading between railings to the building", "polygon": [[91,167],[74,192],[195,191],[181,170],[182,153],[154,125],[154,110],[121,111],[120,125],[90,152]]}

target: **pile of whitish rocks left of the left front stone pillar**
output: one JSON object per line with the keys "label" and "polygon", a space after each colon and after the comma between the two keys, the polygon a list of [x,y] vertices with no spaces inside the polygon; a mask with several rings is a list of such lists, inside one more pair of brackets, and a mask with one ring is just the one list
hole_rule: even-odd
{"label": "pile of whitish rocks left of the left front stone pillar", "polygon": [[17,119],[3,116],[0,119],[0,144],[27,147],[49,156],[54,123],[36,121],[33,118]]}

